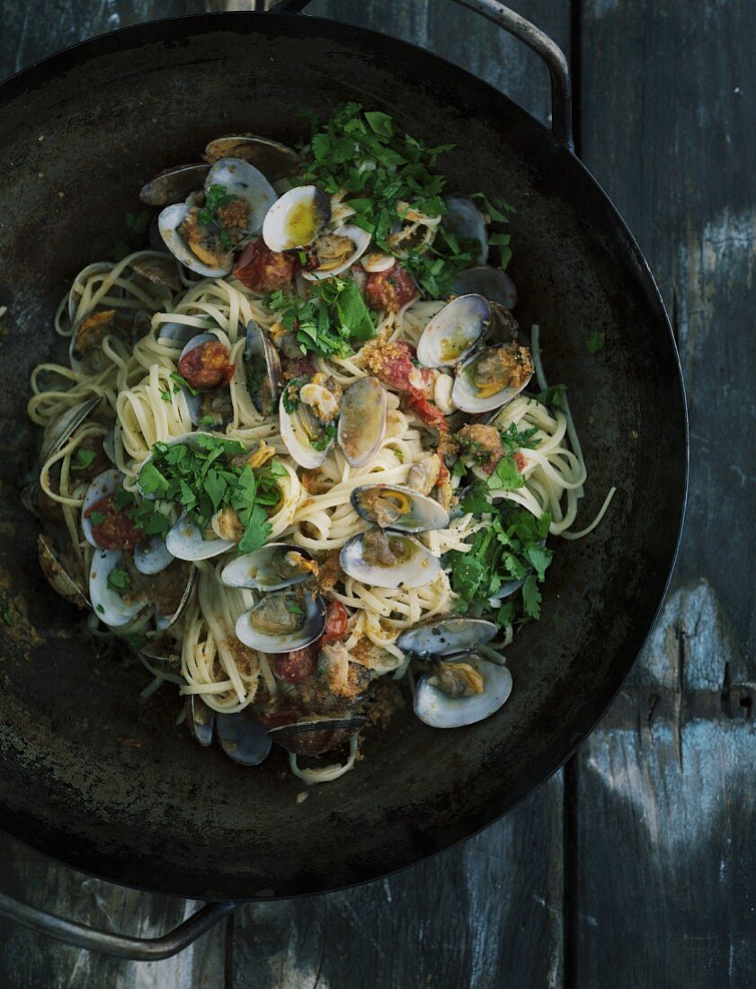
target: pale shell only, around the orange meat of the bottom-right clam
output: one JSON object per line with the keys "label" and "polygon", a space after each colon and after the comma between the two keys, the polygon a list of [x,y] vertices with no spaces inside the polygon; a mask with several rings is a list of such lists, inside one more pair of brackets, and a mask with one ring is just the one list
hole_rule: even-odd
{"label": "pale shell only, around the orange meat of the bottom-right clam", "polygon": [[449,696],[438,686],[438,672],[423,674],[415,688],[415,714],[431,728],[461,728],[483,721],[499,710],[512,692],[512,674],[506,667],[484,660],[474,653],[449,658],[445,666],[467,664],[483,680],[482,693]]}

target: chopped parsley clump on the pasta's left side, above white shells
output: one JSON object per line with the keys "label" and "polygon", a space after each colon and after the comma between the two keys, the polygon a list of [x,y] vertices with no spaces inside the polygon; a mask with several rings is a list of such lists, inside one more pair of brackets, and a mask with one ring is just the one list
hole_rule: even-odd
{"label": "chopped parsley clump on the pasta's left side, above white shells", "polygon": [[[232,508],[244,528],[239,553],[250,553],[264,545],[271,534],[268,509],[281,500],[277,478],[286,469],[273,460],[253,469],[244,462],[244,446],[236,440],[199,435],[197,446],[155,443],[152,460],[139,472],[139,487],[154,501],[144,500],[132,517],[146,510],[159,514],[161,504],[179,505],[203,532],[218,511]],[[140,524],[140,523],[139,523]],[[143,531],[146,531],[143,529]]]}

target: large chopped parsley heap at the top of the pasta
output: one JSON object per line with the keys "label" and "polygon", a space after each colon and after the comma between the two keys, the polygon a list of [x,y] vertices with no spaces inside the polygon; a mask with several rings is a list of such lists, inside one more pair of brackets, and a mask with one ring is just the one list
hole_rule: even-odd
{"label": "large chopped parsley heap at the top of the pasta", "polygon": [[[355,210],[350,223],[368,230],[380,250],[392,250],[389,236],[395,226],[417,211],[428,217],[443,217],[446,178],[436,171],[439,155],[454,144],[426,147],[406,134],[387,114],[364,112],[359,103],[336,107],[330,120],[318,125],[314,115],[310,146],[303,155],[303,172],[296,181],[314,184],[328,193],[346,193]],[[501,200],[489,202],[482,194],[481,211],[495,225],[507,222],[512,207]],[[502,268],[509,261],[509,234],[493,230],[489,246],[501,252]],[[401,264],[420,288],[433,299],[453,291],[454,277],[469,266],[479,245],[460,240],[441,226],[430,247],[406,245]]]}

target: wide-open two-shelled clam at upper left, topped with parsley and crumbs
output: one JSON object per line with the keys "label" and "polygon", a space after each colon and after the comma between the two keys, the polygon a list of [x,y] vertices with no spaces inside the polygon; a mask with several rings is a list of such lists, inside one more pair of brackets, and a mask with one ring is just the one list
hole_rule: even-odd
{"label": "wide-open two-shelled clam at upper left, topped with parsley and crumbs", "polygon": [[[246,203],[244,234],[259,233],[263,217],[276,201],[276,191],[262,172],[239,158],[221,158],[210,168],[205,181],[206,194],[213,186],[222,186],[228,195]],[[222,278],[233,266],[233,244],[222,242],[223,229],[214,219],[206,224],[198,218],[201,222],[193,224],[192,209],[189,203],[167,206],[158,219],[160,235],[174,257],[191,271],[206,278]],[[189,233],[186,227],[182,231],[185,222],[191,225]],[[192,237],[193,231],[190,243],[187,236]]]}

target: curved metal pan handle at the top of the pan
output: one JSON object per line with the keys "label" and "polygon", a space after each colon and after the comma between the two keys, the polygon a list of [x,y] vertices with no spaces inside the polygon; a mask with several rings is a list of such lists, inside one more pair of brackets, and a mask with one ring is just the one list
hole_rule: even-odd
{"label": "curved metal pan handle at the top of the pan", "polygon": [[[279,0],[271,10],[277,14],[298,14],[309,0]],[[568,150],[574,151],[572,139],[572,86],[564,52],[548,35],[524,17],[497,0],[455,0],[475,11],[499,28],[514,35],[543,58],[551,76],[551,134]]]}

